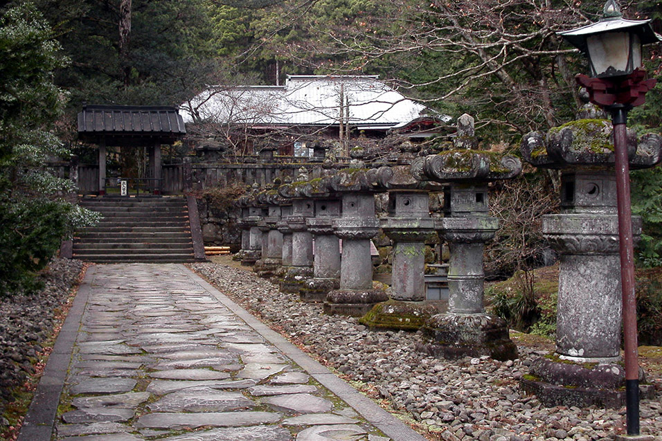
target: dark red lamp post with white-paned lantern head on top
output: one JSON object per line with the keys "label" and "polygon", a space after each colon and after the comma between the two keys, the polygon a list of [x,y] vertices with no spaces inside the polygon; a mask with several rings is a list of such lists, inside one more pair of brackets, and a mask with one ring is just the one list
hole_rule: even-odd
{"label": "dark red lamp post with white-paned lantern head on top", "polygon": [[634,294],[634,251],[627,159],[627,112],[642,105],[645,93],[656,80],[646,80],[641,69],[641,46],[662,41],[650,20],[627,20],[614,0],[607,0],[598,23],[559,33],[587,55],[591,77],[577,75],[577,82],[589,92],[589,99],[611,113],[614,125],[616,194],[620,275],[623,289],[623,330],[625,343],[625,405],[627,435],[639,435],[639,366],[637,361],[636,300]]}

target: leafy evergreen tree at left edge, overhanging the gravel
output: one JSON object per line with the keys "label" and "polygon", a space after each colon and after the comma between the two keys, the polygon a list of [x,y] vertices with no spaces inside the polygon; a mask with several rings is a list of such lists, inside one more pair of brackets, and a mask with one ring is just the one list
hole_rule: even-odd
{"label": "leafy evergreen tree at left edge, overhanging the gravel", "polygon": [[51,127],[64,106],[53,70],[64,66],[51,29],[30,4],[0,18],[0,295],[33,287],[73,228],[88,212],[61,196],[70,181],[44,170],[47,159],[66,157]]}

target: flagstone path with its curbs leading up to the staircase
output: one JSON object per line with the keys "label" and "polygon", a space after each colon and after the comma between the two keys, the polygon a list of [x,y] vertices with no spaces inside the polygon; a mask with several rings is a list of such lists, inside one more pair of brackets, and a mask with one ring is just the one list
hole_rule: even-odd
{"label": "flagstone path with its curbs leading up to the staircase", "polygon": [[113,264],[89,269],[19,437],[50,439],[422,437],[183,265]]}

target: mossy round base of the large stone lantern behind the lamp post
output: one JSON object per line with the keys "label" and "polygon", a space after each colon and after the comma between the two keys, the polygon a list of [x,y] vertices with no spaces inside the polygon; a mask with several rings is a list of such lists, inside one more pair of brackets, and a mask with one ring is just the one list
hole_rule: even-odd
{"label": "mossy round base of the large stone lantern behind the lamp post", "polygon": [[[639,393],[650,399],[654,388],[645,383],[645,373],[639,368]],[[526,394],[535,394],[543,406],[625,406],[625,368],[616,363],[575,363],[560,359],[557,354],[536,359],[531,374],[520,383]]]}

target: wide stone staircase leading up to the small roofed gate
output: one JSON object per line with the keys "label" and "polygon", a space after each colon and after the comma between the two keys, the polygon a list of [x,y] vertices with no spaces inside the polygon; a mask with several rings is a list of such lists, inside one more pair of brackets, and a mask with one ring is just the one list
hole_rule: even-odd
{"label": "wide stone staircase leading up to the small roofed gate", "polygon": [[76,234],[73,258],[98,263],[195,262],[184,197],[85,197],[80,206],[102,213]]}

